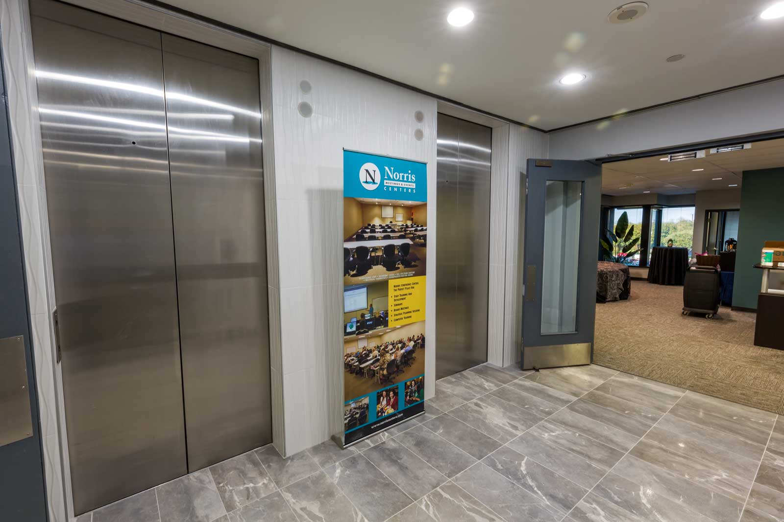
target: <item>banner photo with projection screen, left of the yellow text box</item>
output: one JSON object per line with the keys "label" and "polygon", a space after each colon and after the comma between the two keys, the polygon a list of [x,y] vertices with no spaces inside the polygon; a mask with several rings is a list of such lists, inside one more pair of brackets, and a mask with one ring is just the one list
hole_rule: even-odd
{"label": "banner photo with projection screen, left of the yellow text box", "polygon": [[374,330],[388,329],[388,293],[387,281],[344,288],[343,337],[356,337]]}

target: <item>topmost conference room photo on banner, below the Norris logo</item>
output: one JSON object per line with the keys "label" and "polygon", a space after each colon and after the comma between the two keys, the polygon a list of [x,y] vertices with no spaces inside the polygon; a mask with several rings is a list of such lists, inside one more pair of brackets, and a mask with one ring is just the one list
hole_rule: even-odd
{"label": "topmost conference room photo on banner, below the Norris logo", "polygon": [[427,203],[343,198],[345,285],[425,275]]}

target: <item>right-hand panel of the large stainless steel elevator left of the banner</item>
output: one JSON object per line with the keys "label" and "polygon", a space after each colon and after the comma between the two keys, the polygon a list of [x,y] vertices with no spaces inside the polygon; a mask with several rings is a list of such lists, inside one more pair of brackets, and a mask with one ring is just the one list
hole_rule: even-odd
{"label": "right-hand panel of the large stainless steel elevator left of the banner", "polygon": [[162,38],[194,471],[272,439],[259,63]]}

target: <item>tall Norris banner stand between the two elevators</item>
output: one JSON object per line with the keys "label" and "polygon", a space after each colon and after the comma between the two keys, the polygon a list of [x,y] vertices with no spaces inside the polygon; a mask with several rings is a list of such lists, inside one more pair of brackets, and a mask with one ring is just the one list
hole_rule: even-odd
{"label": "tall Norris banner stand between the two elevators", "polygon": [[343,150],[343,446],[425,410],[427,165]]}

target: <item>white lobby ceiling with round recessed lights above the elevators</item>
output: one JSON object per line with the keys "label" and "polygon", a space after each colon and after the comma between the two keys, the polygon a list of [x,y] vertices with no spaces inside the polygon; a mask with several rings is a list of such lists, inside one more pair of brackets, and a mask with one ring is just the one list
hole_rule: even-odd
{"label": "white lobby ceiling with round recessed lights above the elevators", "polygon": [[[648,0],[622,24],[622,0],[165,1],[543,129],[784,74],[784,18],[758,17],[773,0]],[[466,27],[446,22],[459,5]]]}

